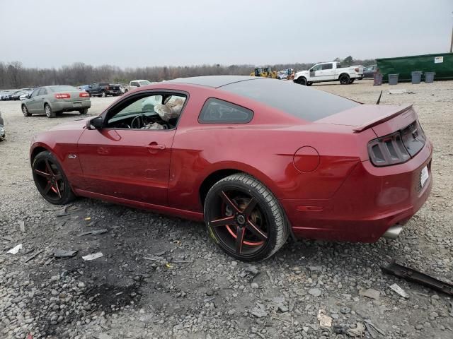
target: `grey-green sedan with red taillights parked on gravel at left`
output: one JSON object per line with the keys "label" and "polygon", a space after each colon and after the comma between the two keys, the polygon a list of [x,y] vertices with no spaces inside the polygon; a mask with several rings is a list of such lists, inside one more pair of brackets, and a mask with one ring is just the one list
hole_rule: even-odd
{"label": "grey-green sedan with red taillights parked on gravel at left", "polygon": [[91,100],[88,93],[67,85],[36,88],[21,105],[25,117],[35,113],[45,113],[48,118],[55,118],[57,114],[71,111],[86,114],[90,107]]}

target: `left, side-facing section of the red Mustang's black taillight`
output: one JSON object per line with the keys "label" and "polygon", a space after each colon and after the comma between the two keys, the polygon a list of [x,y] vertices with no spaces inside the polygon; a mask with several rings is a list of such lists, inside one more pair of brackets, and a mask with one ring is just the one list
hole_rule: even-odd
{"label": "left, side-facing section of the red Mustang's black taillight", "polygon": [[411,158],[399,131],[370,141],[368,153],[374,166],[401,164]]}

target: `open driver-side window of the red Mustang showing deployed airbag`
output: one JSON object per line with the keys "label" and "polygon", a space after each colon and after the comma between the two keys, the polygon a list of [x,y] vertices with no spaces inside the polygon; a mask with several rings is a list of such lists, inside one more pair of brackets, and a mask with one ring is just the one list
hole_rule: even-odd
{"label": "open driver-side window of the red Mustang showing deployed airbag", "polygon": [[186,97],[148,94],[121,103],[108,114],[107,128],[166,130],[176,128]]}

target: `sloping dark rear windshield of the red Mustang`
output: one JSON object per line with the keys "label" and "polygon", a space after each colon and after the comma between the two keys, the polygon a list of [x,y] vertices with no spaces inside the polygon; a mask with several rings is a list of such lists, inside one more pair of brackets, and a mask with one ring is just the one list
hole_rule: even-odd
{"label": "sloping dark rear windshield of the red Mustang", "polygon": [[314,90],[292,81],[256,79],[224,85],[220,89],[249,97],[306,121],[316,121],[345,111],[360,103]]}

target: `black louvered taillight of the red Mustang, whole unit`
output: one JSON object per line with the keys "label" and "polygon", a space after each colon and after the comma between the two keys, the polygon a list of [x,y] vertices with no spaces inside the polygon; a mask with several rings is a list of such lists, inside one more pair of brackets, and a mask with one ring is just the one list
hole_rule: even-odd
{"label": "black louvered taillight of the red Mustang, whole unit", "polygon": [[418,121],[400,131],[374,139],[368,143],[368,153],[374,166],[401,164],[415,156],[426,143],[426,136]]}

